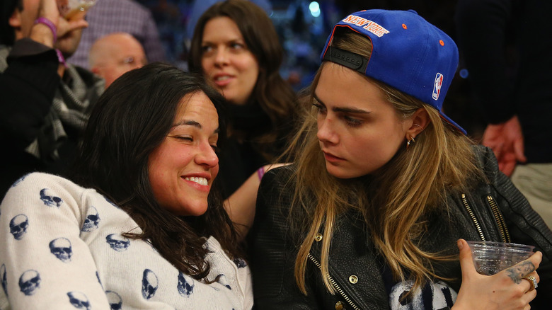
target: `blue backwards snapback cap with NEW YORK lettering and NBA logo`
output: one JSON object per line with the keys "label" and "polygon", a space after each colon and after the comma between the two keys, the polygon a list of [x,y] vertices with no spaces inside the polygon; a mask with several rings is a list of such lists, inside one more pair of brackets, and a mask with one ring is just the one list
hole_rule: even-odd
{"label": "blue backwards snapback cap with NEW YORK lettering and NBA logo", "polygon": [[[368,37],[372,41],[372,56],[366,59],[329,46],[338,27]],[[322,61],[357,70],[431,105],[444,120],[466,134],[441,111],[458,59],[454,41],[413,10],[352,13],[335,24],[321,54]]]}

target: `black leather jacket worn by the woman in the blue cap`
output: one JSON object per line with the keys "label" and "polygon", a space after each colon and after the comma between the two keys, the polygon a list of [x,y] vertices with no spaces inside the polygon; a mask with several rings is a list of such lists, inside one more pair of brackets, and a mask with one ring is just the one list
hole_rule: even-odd
{"label": "black leather jacket worn by the woman in the blue cap", "polygon": [[[532,244],[544,256],[537,270],[541,282],[531,309],[550,309],[552,232],[510,179],[498,171],[493,152],[476,147],[476,154],[489,184],[478,184],[472,193],[465,195],[450,195],[447,201],[449,212],[428,217],[430,231],[425,234],[420,247],[434,253],[457,254],[457,239],[480,240],[482,235],[488,241]],[[260,185],[255,224],[249,236],[255,308],[389,309],[389,294],[384,287],[379,263],[381,258],[376,258],[367,229],[355,214],[338,218],[331,241],[328,268],[336,294],[328,293],[318,268],[321,242],[314,242],[309,256],[307,295],[299,292],[294,279],[294,263],[301,238],[294,236],[287,221],[293,193],[293,185],[287,180],[292,169],[293,165],[273,169],[265,174]],[[507,232],[500,228],[498,222],[501,221],[507,226]],[[458,292],[461,284],[458,260],[437,263],[433,267],[437,275],[457,279],[447,282],[447,285]]]}

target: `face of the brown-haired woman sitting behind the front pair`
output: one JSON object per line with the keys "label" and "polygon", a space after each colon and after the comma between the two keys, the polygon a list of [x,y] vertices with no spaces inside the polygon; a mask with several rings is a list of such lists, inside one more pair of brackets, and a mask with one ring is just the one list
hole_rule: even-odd
{"label": "face of the brown-haired woman sitting behind the front pair", "polygon": [[238,25],[226,16],[212,18],[205,24],[201,45],[205,75],[226,100],[247,103],[257,83],[259,64]]}

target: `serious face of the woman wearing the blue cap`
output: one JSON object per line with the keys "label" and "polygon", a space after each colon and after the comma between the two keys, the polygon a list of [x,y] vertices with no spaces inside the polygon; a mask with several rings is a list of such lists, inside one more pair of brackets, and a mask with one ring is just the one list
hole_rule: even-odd
{"label": "serious face of the woman wearing the blue cap", "polygon": [[405,142],[411,122],[401,120],[384,92],[356,71],[327,62],[315,94],[318,141],[332,176],[373,173]]}

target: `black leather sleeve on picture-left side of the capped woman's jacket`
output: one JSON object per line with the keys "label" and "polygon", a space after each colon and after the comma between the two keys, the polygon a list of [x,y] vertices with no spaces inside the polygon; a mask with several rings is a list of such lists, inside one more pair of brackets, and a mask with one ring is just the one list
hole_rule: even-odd
{"label": "black leather sleeve on picture-left side of the capped woman's jacket", "polygon": [[248,235],[256,309],[318,309],[314,294],[301,294],[294,279],[297,247],[289,237],[289,166],[275,168],[260,184],[255,222]]}

